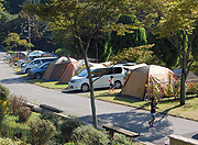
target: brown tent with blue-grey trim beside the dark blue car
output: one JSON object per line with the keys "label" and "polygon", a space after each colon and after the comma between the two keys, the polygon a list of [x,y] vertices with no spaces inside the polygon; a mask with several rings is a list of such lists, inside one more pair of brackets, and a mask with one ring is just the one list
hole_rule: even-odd
{"label": "brown tent with blue-grey trim beside the dark blue car", "polygon": [[[47,69],[45,70],[43,75],[43,79],[45,80],[59,80],[69,66],[70,63],[75,62],[76,59],[70,59],[67,57],[59,57],[52,62]],[[77,62],[77,60],[76,60]]]}

